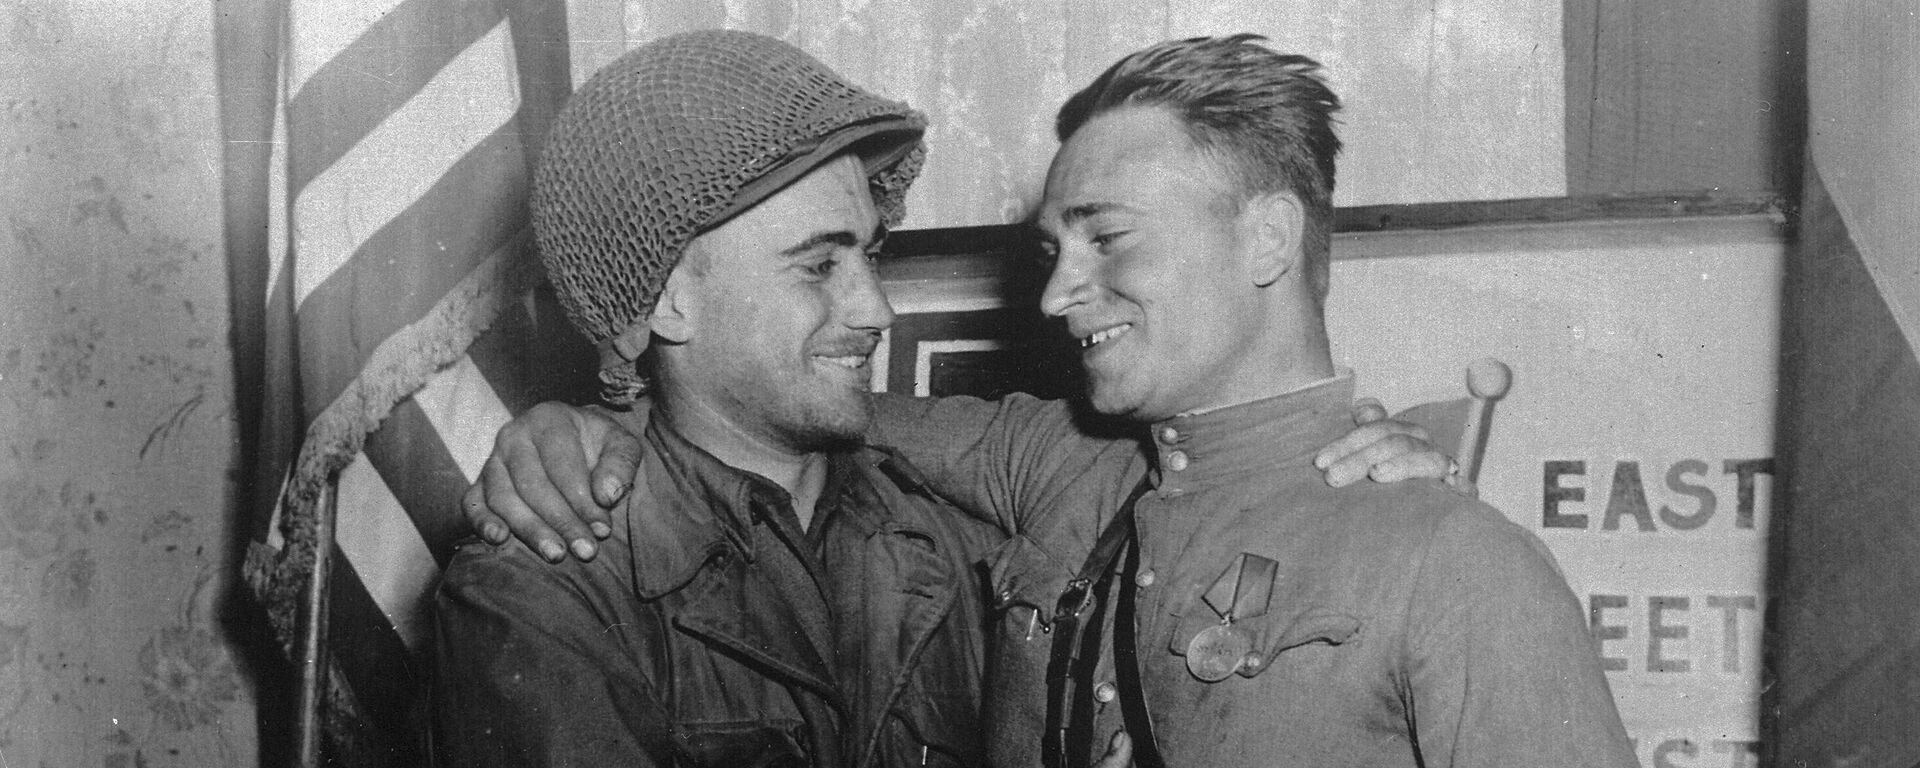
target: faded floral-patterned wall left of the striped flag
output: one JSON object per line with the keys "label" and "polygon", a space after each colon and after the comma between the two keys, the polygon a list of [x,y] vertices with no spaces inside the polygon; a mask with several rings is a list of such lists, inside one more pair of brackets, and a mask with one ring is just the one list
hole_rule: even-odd
{"label": "faded floral-patterned wall left of the striped flag", "polygon": [[211,8],[6,0],[0,73],[0,764],[253,764]]}

